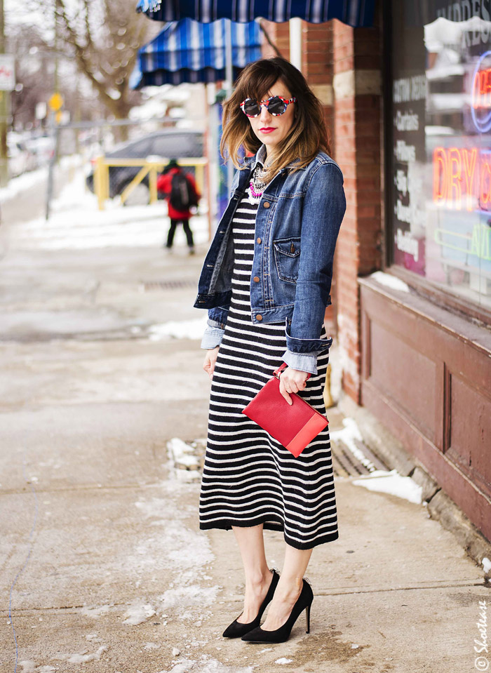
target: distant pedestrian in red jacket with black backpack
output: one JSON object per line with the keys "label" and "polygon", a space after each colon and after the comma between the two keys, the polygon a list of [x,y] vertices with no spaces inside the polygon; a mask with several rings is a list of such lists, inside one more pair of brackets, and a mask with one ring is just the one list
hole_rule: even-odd
{"label": "distant pedestrian in red jacket with black backpack", "polygon": [[196,182],[192,175],[184,173],[175,159],[170,159],[162,175],[157,179],[157,189],[167,201],[170,217],[170,227],[165,247],[170,250],[173,246],[174,234],[177,225],[182,222],[186,234],[189,254],[194,254],[193,232],[189,227],[189,218],[192,213],[189,208],[197,206],[201,194],[196,189]]}

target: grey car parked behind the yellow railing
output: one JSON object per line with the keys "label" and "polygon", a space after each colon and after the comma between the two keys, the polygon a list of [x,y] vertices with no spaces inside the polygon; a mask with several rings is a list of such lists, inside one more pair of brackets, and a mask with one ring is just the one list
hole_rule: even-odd
{"label": "grey car parked behind the yellow railing", "polygon": [[[204,137],[201,131],[166,129],[137,140],[130,140],[107,152],[107,159],[147,159],[159,156],[166,159],[203,156]],[[95,159],[93,160],[95,164]],[[123,192],[135,178],[140,166],[109,166],[109,197],[112,199]],[[192,171],[190,171],[192,173]],[[86,178],[87,186],[94,191],[93,169]],[[148,175],[128,195],[125,204],[148,204],[150,199]]]}

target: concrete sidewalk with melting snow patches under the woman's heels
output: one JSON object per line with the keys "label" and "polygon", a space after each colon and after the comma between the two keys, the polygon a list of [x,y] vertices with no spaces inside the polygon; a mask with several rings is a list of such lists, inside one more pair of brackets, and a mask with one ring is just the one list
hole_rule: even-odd
{"label": "concrete sidewalk with melting snow patches under the woman's heels", "polygon": [[[2,262],[1,673],[15,668],[13,628],[23,673],[485,670],[482,568],[423,505],[351,477],[336,479],[339,540],[309,566],[311,634],[302,615],[285,644],[222,639],[241,612],[241,559],[231,531],[199,531],[199,475],[168,453],[172,438],[206,437],[203,352],[149,338],[156,323],[200,319],[199,252]],[[281,568],[283,536],[265,538]]]}

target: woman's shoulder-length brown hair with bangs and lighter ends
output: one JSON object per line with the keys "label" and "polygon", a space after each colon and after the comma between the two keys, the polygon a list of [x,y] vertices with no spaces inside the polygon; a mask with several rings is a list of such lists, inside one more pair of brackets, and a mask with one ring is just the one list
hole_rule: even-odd
{"label": "woman's shoulder-length brown hair with bangs and lighter ends", "polygon": [[262,143],[255,135],[248,117],[243,114],[240,104],[245,98],[262,100],[271,86],[281,80],[295,96],[295,121],[290,133],[278,143],[274,161],[267,169],[266,180],[271,180],[281,168],[292,161],[292,171],[310,164],[319,149],[330,154],[328,134],[324,124],[322,103],[311,91],[300,70],[285,58],[261,58],[246,65],[236,81],[234,93],[223,104],[223,134],[220,153],[226,159],[230,156],[236,168],[243,164],[238,159],[241,145],[248,152],[257,152]]}

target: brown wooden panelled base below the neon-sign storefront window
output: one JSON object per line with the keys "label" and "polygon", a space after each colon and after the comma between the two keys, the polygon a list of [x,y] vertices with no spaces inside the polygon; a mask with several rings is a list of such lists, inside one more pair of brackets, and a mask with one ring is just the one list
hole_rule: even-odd
{"label": "brown wooden panelled base below the neon-sign storefront window", "polygon": [[361,401],[491,540],[491,334],[360,279]]}

